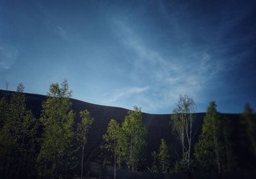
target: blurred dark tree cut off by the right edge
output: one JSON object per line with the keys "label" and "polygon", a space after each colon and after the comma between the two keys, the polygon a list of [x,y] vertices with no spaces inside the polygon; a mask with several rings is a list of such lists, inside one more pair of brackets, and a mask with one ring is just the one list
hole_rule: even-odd
{"label": "blurred dark tree cut off by the right edge", "polygon": [[244,106],[241,122],[246,128],[246,134],[248,140],[250,141],[252,152],[256,157],[256,115],[248,103],[246,103]]}

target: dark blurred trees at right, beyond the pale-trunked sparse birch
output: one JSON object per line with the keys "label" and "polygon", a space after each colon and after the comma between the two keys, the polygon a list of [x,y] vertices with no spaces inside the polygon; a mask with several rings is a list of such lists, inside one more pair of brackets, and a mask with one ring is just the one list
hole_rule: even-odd
{"label": "dark blurred trees at right, beyond the pale-trunked sparse birch", "polygon": [[243,163],[243,160],[247,160],[246,152],[255,154],[255,142],[256,116],[249,104],[246,104],[244,113],[236,124],[232,118],[221,116],[216,109],[216,103],[211,102],[204,117],[199,141],[195,144],[194,170],[215,170],[223,173],[244,167],[254,168],[255,155],[250,156],[252,162]]}

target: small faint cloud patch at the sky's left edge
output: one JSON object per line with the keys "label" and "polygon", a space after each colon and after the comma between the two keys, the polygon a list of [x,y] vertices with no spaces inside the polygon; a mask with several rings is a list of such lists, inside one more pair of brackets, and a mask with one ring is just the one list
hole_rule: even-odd
{"label": "small faint cloud patch at the sky's left edge", "polygon": [[10,69],[18,56],[19,50],[17,48],[0,45],[0,68]]}

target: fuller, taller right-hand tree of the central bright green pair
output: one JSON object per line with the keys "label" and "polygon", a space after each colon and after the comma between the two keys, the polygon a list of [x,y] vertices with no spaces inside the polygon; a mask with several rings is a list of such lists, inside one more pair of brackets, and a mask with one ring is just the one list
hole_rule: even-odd
{"label": "fuller, taller right-hand tree of the central bright green pair", "polygon": [[143,126],[141,109],[134,106],[133,111],[128,111],[122,123],[120,148],[129,169],[135,171],[141,159],[141,152],[146,145],[147,129]]}

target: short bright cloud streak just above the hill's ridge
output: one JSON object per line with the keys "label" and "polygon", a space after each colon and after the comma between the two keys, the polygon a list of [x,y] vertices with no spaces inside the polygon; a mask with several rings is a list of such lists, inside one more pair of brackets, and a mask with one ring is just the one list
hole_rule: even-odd
{"label": "short bright cloud streak just above the hill's ridge", "polygon": [[107,99],[106,103],[113,103],[123,97],[130,97],[134,94],[140,94],[146,90],[148,90],[148,87],[127,87],[124,89],[116,89],[113,91],[113,94],[111,94],[111,97]]}

